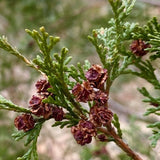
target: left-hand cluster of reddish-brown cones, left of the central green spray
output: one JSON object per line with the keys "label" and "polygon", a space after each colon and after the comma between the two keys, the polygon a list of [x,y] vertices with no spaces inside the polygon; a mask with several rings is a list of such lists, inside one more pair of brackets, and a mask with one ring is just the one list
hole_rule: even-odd
{"label": "left-hand cluster of reddish-brown cones, left of the central green spray", "polygon": [[48,103],[43,103],[43,99],[48,96],[54,98],[53,93],[48,92],[48,88],[51,88],[49,82],[45,79],[39,80],[36,83],[37,95],[33,95],[29,101],[29,108],[32,114],[22,114],[15,118],[14,124],[18,130],[24,132],[34,128],[36,120],[35,117],[43,117],[44,119],[54,118],[55,121],[62,121],[64,118],[63,109],[58,106],[53,106]]}

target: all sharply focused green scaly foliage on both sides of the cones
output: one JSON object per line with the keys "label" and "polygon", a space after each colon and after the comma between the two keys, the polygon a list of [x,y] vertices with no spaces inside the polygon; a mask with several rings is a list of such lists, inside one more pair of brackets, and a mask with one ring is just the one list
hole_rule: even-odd
{"label": "all sharply focused green scaly foliage on both sides of the cones", "polygon": [[[104,91],[109,94],[114,80],[123,74],[133,74],[141,77],[151,83],[155,89],[160,89],[160,83],[155,75],[155,68],[152,65],[152,61],[160,57],[160,25],[158,24],[157,19],[153,18],[147,25],[141,27],[137,23],[129,23],[126,21],[126,18],[133,9],[135,0],[109,0],[109,3],[112,7],[114,18],[111,18],[108,22],[108,27],[95,29],[92,32],[92,36],[88,36],[89,40],[96,48],[103,68],[108,71],[108,79]],[[34,39],[40,49],[40,52],[35,59],[28,60],[16,48],[12,47],[4,36],[0,37],[0,48],[16,56],[22,62],[25,62],[26,65],[36,69],[48,78],[51,85],[49,92],[53,93],[54,96],[49,96],[44,99],[43,103],[61,106],[66,110],[65,120],[55,122],[52,127],[71,127],[76,125],[80,119],[86,120],[89,117],[88,110],[83,108],[82,104],[75,100],[75,97],[71,93],[71,89],[75,84],[82,83],[86,80],[85,71],[90,68],[90,63],[85,61],[84,65],[82,65],[82,63],[77,63],[76,66],[69,65],[72,57],[68,55],[68,49],[63,47],[60,53],[55,53],[55,45],[59,42],[60,38],[50,36],[45,31],[44,27],[41,27],[39,31],[26,29],[26,32]],[[134,55],[132,51],[129,50],[127,44],[128,41],[134,39],[142,39],[151,44],[151,48],[148,48],[147,50],[150,53],[153,52],[153,54],[147,59]],[[136,69],[134,69],[133,66]],[[73,81],[71,81],[71,79],[73,79]],[[160,99],[153,98],[145,88],[142,88],[139,91],[147,97],[144,102],[160,105]],[[89,103],[89,107],[92,107],[91,103]],[[0,108],[30,113],[28,109],[21,108],[2,96],[0,96]],[[159,115],[159,113],[157,113],[159,110],[159,107],[150,108],[145,115],[147,116],[151,113]],[[44,121],[44,119],[39,118],[36,121],[34,129],[28,132],[13,134],[15,140],[20,140],[27,136],[25,145],[27,146],[30,144],[28,152],[24,154],[24,156],[19,157],[18,160],[31,160],[32,158],[38,160],[36,144]],[[117,129],[118,136],[122,139],[120,122],[116,114],[114,114],[112,123]],[[159,122],[156,122],[150,124],[148,127],[160,129],[160,124]],[[151,140],[152,146],[155,146],[160,136],[159,131],[153,131],[154,133]],[[112,140],[114,139],[114,137],[111,138]],[[102,159],[103,158],[104,157],[102,157]]]}

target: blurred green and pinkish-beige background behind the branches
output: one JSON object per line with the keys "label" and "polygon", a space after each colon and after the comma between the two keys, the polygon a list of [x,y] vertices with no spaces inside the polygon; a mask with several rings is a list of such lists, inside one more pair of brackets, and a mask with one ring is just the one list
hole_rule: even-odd
{"label": "blurred green and pinkish-beige background behind the branches", "polygon": [[[160,4],[155,5],[150,1],[141,0],[136,2],[127,20],[144,24],[150,17],[159,14]],[[106,0],[0,0],[0,35],[8,37],[9,42],[27,58],[34,58],[39,50],[24,30],[44,26],[48,33],[61,37],[61,42],[55,48],[55,52],[59,52],[60,48],[65,46],[69,48],[69,54],[73,56],[72,63],[75,64],[77,61],[83,63],[85,59],[89,59],[91,63],[99,63],[95,48],[88,41],[87,35],[91,34],[95,28],[107,27],[107,21],[112,16],[111,8]],[[16,104],[27,107],[29,98],[35,90],[34,83],[39,76],[17,58],[0,50],[0,94]],[[154,160],[158,155],[156,150],[149,146],[147,137],[151,133],[144,130],[146,120],[136,113],[135,116],[128,111],[125,113],[124,106],[127,106],[127,109],[131,107],[132,110],[138,108],[138,111],[142,113],[145,110],[144,104],[141,103],[142,97],[135,96],[139,94],[136,91],[136,82],[144,85],[142,80],[132,76],[119,78],[112,88],[111,105],[122,107],[122,111],[116,108],[113,110],[120,115],[125,139],[131,144],[131,147],[141,152],[144,159]],[[127,101],[126,96],[124,102],[122,97],[128,94],[130,97]],[[137,102],[131,103],[131,100],[137,100]],[[139,106],[142,109],[139,109]],[[23,142],[15,142],[11,138],[11,134],[15,131],[13,125],[15,116],[14,113],[0,110],[0,160],[15,160],[17,156],[21,156],[26,151]],[[45,127],[44,130],[48,129],[47,125]],[[48,131],[47,133],[42,131],[40,136],[40,147],[38,148],[40,160],[94,160],[97,157],[99,160],[129,160],[126,154],[114,144],[104,145],[94,142],[93,145],[79,148],[71,140],[72,137],[64,140],[66,145],[65,149],[62,149],[62,158],[59,156],[62,153],[59,153],[55,147],[60,142],[54,139],[56,139],[55,136],[63,137],[64,132],[55,133],[54,128]],[[65,133],[69,134],[69,131],[66,130]]]}

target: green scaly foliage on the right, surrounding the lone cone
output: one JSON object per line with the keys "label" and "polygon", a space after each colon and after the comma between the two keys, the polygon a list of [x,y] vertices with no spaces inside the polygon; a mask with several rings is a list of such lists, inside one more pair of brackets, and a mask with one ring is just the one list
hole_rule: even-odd
{"label": "green scaly foliage on the right, surrounding the lone cone", "polygon": [[[114,19],[109,21],[111,27],[94,30],[92,37],[89,36],[89,40],[95,46],[102,64],[108,70],[108,92],[113,81],[122,74],[136,75],[151,83],[155,89],[160,89],[160,83],[152,65],[152,61],[159,58],[160,24],[155,17],[142,27],[138,23],[125,22],[124,20],[131,12],[135,1],[109,0],[109,2],[114,12]],[[128,50],[126,41],[134,39],[142,39],[151,44],[151,48],[147,49],[150,54],[153,53],[149,59],[136,57]],[[136,69],[130,69],[129,66],[131,65]],[[144,88],[140,92],[148,98],[145,101],[159,105],[159,98],[151,97]],[[145,115],[150,113],[159,115],[157,111],[159,111],[159,107],[150,108]],[[151,139],[153,140],[154,137],[157,141],[158,135],[154,134]]]}

